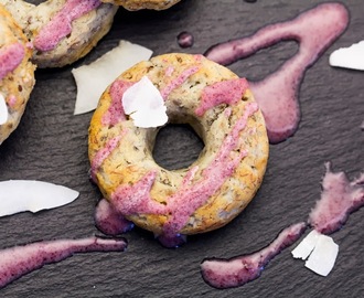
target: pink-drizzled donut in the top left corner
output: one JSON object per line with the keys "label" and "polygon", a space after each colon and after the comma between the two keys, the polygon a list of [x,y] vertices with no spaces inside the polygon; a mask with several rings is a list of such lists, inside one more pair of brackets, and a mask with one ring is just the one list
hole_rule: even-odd
{"label": "pink-drizzled donut in the top left corner", "polygon": [[99,0],[1,2],[33,44],[32,61],[40,68],[62,67],[86,55],[109,31],[118,9]]}

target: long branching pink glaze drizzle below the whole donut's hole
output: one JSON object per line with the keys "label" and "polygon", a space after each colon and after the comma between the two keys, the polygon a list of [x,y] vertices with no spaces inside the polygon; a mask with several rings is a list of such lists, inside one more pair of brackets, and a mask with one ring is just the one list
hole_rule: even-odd
{"label": "long branching pink glaze drizzle below the whole donut's hole", "polygon": [[[201,181],[192,183],[197,168],[190,169],[181,188],[174,194],[167,198],[167,205],[156,202],[150,196],[150,190],[157,177],[157,172],[150,171],[135,184],[117,188],[110,198],[113,206],[118,213],[125,216],[135,213],[170,213],[171,215],[163,226],[163,235],[158,236],[161,236],[162,244],[174,246],[175,236],[181,236],[179,231],[186,224],[191,214],[221,188],[247,155],[243,148],[239,148],[240,141],[238,134],[246,127],[248,117],[257,109],[258,105],[256,103],[250,103],[246,106],[244,115],[236,121],[232,131],[225,138],[214,161],[202,171]],[[231,152],[237,149],[239,149],[239,152],[232,157]]]}

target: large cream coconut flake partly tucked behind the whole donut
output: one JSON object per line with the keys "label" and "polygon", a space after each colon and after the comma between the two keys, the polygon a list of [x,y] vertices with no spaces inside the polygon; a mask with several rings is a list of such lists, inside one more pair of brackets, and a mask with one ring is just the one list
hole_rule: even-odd
{"label": "large cream coconut flake partly tucked behind the whole donut", "polygon": [[152,51],[128,41],[104,54],[89,65],[73,68],[72,74],[77,85],[77,97],[74,115],[94,110],[106,89],[120,73],[140,61],[149,60]]}

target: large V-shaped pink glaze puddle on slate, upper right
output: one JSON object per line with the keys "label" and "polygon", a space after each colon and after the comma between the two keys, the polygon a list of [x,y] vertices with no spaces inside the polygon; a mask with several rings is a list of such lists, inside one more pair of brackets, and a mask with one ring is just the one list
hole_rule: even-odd
{"label": "large V-shaped pink glaze puddle on slate, upper right", "polygon": [[269,140],[277,143],[291,137],[298,128],[298,93],[304,72],[344,32],[347,23],[349,13],[343,4],[324,3],[291,21],[267,25],[251,36],[214,45],[205,56],[228,65],[280,41],[299,43],[298,53],[277,72],[250,83],[266,119]]}

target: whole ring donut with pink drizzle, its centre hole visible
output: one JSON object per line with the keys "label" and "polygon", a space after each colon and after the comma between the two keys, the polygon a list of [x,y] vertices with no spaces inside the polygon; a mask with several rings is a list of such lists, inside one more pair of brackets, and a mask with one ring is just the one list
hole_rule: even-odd
{"label": "whole ring donut with pink drizzle, its centre hole visible", "polygon": [[[147,76],[169,124],[189,124],[204,141],[199,159],[169,171],[152,157],[159,128],[125,115],[122,94]],[[257,192],[268,160],[264,117],[245,78],[202,55],[165,54],[122,73],[104,93],[88,137],[92,178],[117,212],[157,236],[221,227]]]}

